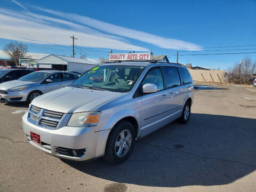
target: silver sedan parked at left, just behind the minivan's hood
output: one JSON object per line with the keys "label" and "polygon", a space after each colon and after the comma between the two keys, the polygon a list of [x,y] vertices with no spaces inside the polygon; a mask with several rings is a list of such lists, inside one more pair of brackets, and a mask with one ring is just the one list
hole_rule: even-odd
{"label": "silver sedan parked at left, just behind the minivan's hood", "polygon": [[64,71],[36,71],[18,80],[0,84],[0,99],[30,103],[41,94],[70,85],[77,78],[77,74]]}

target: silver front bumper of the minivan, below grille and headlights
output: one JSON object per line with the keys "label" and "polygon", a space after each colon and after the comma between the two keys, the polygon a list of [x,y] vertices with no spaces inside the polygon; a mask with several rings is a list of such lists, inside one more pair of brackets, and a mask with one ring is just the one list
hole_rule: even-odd
{"label": "silver front bumper of the minivan, below grille and headlights", "polygon": [[[22,117],[22,128],[26,139],[31,145],[47,154],[74,161],[86,161],[104,155],[110,130],[95,132],[95,127],[73,126],[51,130],[30,123],[27,117],[28,113]],[[30,131],[40,135],[41,145],[30,139]],[[82,151],[83,155],[74,156],[73,151]]]}

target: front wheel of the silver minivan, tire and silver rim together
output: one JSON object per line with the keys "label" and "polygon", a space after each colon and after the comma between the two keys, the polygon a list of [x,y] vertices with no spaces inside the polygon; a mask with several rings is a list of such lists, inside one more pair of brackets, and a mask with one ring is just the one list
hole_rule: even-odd
{"label": "front wheel of the silver minivan, tire and silver rim together", "polygon": [[108,137],[105,160],[111,164],[123,163],[131,154],[134,141],[134,126],[127,121],[117,123]]}

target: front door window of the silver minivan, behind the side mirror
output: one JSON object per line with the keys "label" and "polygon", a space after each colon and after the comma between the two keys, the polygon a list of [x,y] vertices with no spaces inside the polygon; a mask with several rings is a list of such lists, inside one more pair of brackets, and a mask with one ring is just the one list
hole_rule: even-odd
{"label": "front door window of the silver minivan, behind the side mirror", "polygon": [[164,89],[164,84],[163,84],[163,78],[162,74],[159,68],[157,69],[152,69],[148,75],[145,77],[142,86],[147,84],[147,83],[152,83],[157,86],[157,90],[163,90]]}

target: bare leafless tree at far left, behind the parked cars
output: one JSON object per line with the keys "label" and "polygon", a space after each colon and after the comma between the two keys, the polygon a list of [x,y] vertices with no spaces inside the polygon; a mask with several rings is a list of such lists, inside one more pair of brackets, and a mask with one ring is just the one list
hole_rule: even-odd
{"label": "bare leafless tree at far left, behind the parked cars", "polygon": [[28,46],[17,41],[6,44],[3,48],[3,51],[10,57],[10,59],[19,65],[19,58],[25,57],[28,50]]}

